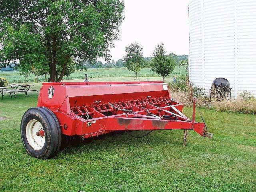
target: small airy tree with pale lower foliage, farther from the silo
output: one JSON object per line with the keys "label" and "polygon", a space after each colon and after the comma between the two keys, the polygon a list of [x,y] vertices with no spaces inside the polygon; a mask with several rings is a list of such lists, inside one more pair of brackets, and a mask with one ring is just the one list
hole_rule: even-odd
{"label": "small airy tree with pale lower foliage, farther from the silo", "polygon": [[[140,65],[140,68],[144,68],[145,60],[143,58],[143,47],[137,42],[128,45],[125,48],[126,55],[124,56],[124,66],[127,67],[128,70],[134,71],[134,64],[137,63]],[[137,65],[136,64],[136,65]]]}

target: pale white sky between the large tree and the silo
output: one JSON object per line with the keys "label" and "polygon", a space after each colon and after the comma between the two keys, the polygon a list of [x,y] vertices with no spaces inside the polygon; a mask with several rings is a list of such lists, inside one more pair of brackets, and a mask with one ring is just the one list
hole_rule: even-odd
{"label": "pale white sky between the large tree and the silo", "polygon": [[124,20],[119,39],[110,49],[111,59],[123,59],[125,47],[133,42],[143,46],[150,57],[159,43],[167,53],[189,53],[188,0],[124,0]]}

